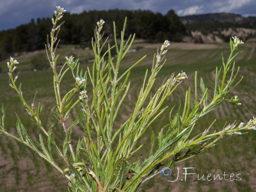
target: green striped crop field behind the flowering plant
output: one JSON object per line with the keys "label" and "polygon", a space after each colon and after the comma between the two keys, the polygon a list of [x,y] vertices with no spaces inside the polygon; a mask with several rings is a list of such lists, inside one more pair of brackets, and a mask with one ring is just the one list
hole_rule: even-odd
{"label": "green striped crop field behind the flowering plant", "polygon": [[[161,44],[146,44],[137,42],[133,45],[133,49],[136,52],[127,54],[126,58],[121,63],[120,74],[122,71],[129,68],[142,56],[147,55],[140,64],[132,69],[130,75],[131,88],[124,101],[124,107],[122,113],[119,114],[118,122],[116,122],[116,128],[124,120],[126,120],[132,113],[132,107],[135,105],[140,87],[143,83],[143,78],[146,69],[151,69],[152,60],[157,47],[161,47]],[[223,103],[219,108],[215,108],[212,113],[204,116],[203,119],[197,122],[194,128],[193,135],[196,135],[204,131],[208,126],[217,119],[210,131],[221,130],[227,121],[231,124],[234,120],[240,120],[241,122],[247,122],[252,119],[252,116],[256,116],[256,51],[255,43],[244,44],[239,46],[243,50],[236,58],[236,68],[240,66],[239,77],[244,76],[241,84],[237,86],[235,90],[232,90],[233,95],[238,95],[241,98],[242,105],[231,105],[230,103]],[[171,43],[169,51],[166,53],[167,59],[165,66],[162,68],[159,76],[156,78],[156,87],[161,84],[165,76],[170,76],[171,73],[179,73],[181,70],[186,72],[188,79],[184,80],[180,86],[174,91],[170,98],[165,101],[165,104],[169,106],[169,109],[175,105],[174,111],[178,109],[180,103],[184,102],[186,90],[189,87],[194,88],[195,71],[197,76],[203,77],[204,83],[209,90],[214,86],[215,81],[215,69],[220,67],[221,52],[224,58],[227,60],[229,56],[229,45],[223,44],[187,44],[187,43]],[[44,53],[44,51],[42,51]],[[60,54],[59,64],[65,62],[64,57],[74,55],[80,58],[81,67],[86,70],[87,66],[92,68],[92,59],[94,54],[92,50],[83,50],[79,46],[63,46],[57,51]],[[51,115],[51,108],[54,106],[54,91],[52,82],[52,69],[45,69],[42,71],[34,71],[31,63],[31,58],[36,55],[41,56],[40,52],[28,53],[15,57],[19,61],[16,71],[21,71],[17,80],[17,84],[22,82],[23,96],[27,100],[27,103],[33,101],[33,97],[36,91],[38,91],[35,103],[45,102],[44,111],[42,112],[42,123],[45,127],[49,127],[48,117]],[[6,114],[6,129],[16,134],[15,124],[18,114],[24,126],[28,129],[28,132],[32,135],[32,139],[38,140],[39,130],[31,123],[30,116],[20,103],[18,95],[8,84],[8,68],[4,60],[0,62],[0,66],[3,68],[3,72],[0,74],[0,104],[4,104]],[[72,78],[71,73],[67,74],[65,79],[62,80],[62,93],[65,94],[69,89],[73,88],[75,80]],[[237,78],[238,79],[238,78]],[[155,88],[156,88],[155,87]],[[92,86],[90,82],[87,82],[87,93],[89,101],[91,98],[90,92],[92,92]],[[193,93],[193,92],[192,92]],[[192,94],[193,95],[193,94]],[[142,153],[143,157],[147,157],[148,148],[150,148],[151,132],[154,130],[155,134],[160,129],[168,124],[168,113],[165,113],[157,119],[147,130],[145,137],[141,140],[144,146],[138,151],[138,156]],[[76,118],[76,110],[73,110],[70,114],[70,120]],[[64,139],[64,132],[60,124],[56,124],[54,130],[56,140]],[[192,135],[192,136],[193,136]],[[76,127],[73,138],[78,139],[83,137],[83,131],[81,127]],[[59,146],[62,143],[58,143]],[[148,183],[140,186],[140,191],[197,191],[197,192],[253,192],[256,191],[256,131],[250,131],[245,135],[230,135],[228,140],[225,140],[220,145],[214,147],[207,153],[195,156],[188,161],[175,164],[172,167],[173,174],[169,178],[164,178],[158,175],[156,178],[150,180]],[[57,155],[56,155],[57,157]],[[58,164],[62,164],[61,168],[66,168],[64,162],[61,159],[57,159]],[[177,167],[180,170],[180,177],[176,182],[168,182],[168,180],[175,180],[177,177]],[[194,175],[188,175],[187,181],[184,181],[184,167],[196,167],[189,172],[196,173]],[[63,178],[57,170],[54,170],[50,164],[45,162],[34,152],[27,149],[24,145],[6,138],[3,135],[0,136],[0,192],[21,192],[21,191],[67,191],[68,180]],[[227,180],[198,180],[204,174],[204,179],[211,173],[212,175],[220,174],[224,172],[228,174]],[[234,173],[236,175],[240,173],[242,180],[230,181],[230,175]],[[213,176],[212,176],[213,178]],[[183,181],[181,181],[183,179]],[[210,179],[209,179],[210,180]]]}

